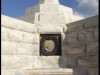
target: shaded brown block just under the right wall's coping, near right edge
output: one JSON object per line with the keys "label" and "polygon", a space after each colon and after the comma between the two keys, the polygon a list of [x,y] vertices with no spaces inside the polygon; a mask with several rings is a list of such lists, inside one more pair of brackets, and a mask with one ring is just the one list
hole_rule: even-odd
{"label": "shaded brown block just under the right wall's coping, near right edge", "polygon": [[79,32],[79,40],[80,42],[92,41],[94,40],[93,31],[86,30]]}

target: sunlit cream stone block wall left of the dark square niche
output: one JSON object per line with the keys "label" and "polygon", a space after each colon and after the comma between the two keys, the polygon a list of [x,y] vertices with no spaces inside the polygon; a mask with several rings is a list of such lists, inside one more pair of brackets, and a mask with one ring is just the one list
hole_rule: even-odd
{"label": "sunlit cream stone block wall left of the dark square niche", "polygon": [[39,34],[34,24],[1,16],[2,75],[25,75],[39,53]]}

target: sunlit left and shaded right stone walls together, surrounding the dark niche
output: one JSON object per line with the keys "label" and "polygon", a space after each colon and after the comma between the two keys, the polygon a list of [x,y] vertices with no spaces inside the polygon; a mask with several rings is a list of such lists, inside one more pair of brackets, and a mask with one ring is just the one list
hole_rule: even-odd
{"label": "sunlit left and shaded right stone walls together, surrounding the dark niche", "polygon": [[[98,75],[98,16],[67,24],[65,33],[4,15],[1,24],[2,75]],[[40,34],[61,34],[62,55],[40,56]]]}

